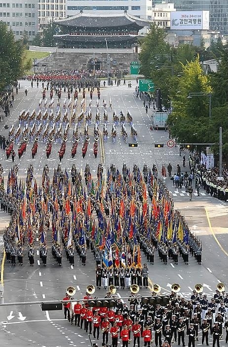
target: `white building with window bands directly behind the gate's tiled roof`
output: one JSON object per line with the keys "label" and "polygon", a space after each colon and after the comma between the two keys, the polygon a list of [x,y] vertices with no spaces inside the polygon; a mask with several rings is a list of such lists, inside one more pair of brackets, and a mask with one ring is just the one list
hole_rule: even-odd
{"label": "white building with window bands directly behind the gate's tiled roof", "polygon": [[152,0],[66,0],[66,15],[84,13],[123,13],[152,19]]}

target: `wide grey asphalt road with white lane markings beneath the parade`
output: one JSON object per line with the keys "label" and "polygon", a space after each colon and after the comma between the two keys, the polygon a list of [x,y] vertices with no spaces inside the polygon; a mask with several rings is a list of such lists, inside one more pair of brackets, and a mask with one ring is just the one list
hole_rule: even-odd
{"label": "wide grey asphalt road with white lane markings beneath the parade", "polygon": [[[15,122],[17,128],[17,119],[19,112],[24,109],[38,110],[38,100],[41,97],[41,86],[39,88],[29,88],[27,98],[24,95],[24,87],[29,87],[27,81],[21,81],[21,89],[19,95],[15,98],[14,107],[11,116],[7,119],[7,124],[10,128],[11,124]],[[102,101],[106,99],[109,105],[111,97],[113,109],[115,113],[120,110],[126,115],[129,110],[133,117],[133,123],[138,132],[138,147],[128,147],[120,133],[120,126],[118,127],[117,140],[113,144],[109,138],[108,143],[100,141],[100,148],[97,159],[94,158],[92,152],[93,136],[90,136],[90,143],[86,157],[82,159],[81,144],[78,145],[78,152],[74,160],[71,158],[72,139],[68,138],[66,154],[62,160],[62,168],[69,170],[72,164],[81,172],[84,171],[85,164],[88,162],[91,172],[96,176],[97,166],[99,162],[103,162],[105,172],[110,167],[111,163],[121,170],[123,162],[128,167],[133,168],[133,164],[137,164],[140,169],[143,164],[147,163],[152,167],[156,164],[161,174],[162,164],[167,167],[171,163],[173,168],[177,164],[182,167],[182,158],[179,156],[179,149],[176,147],[168,148],[154,148],[153,143],[166,143],[168,134],[164,131],[151,131],[151,110],[146,114],[143,107],[143,101],[136,98],[134,89],[136,82],[132,81],[132,88],[127,86],[120,87],[106,87],[101,90],[101,103],[100,110],[102,111]],[[63,95],[63,99],[66,95]],[[88,97],[88,95],[87,95]],[[62,101],[63,102],[63,101]],[[56,102],[55,102],[56,104]],[[61,103],[62,107],[62,103]],[[93,97],[92,114],[93,120],[96,110],[96,97]],[[77,109],[79,112],[79,109]],[[108,109],[109,134],[112,127],[112,113],[113,110]],[[101,115],[103,112],[101,112]],[[3,123],[0,123],[0,133],[7,136],[7,132],[3,128]],[[90,127],[90,133],[93,133],[93,122]],[[130,137],[130,126],[126,125],[129,142],[133,142]],[[99,126],[102,131],[102,125]],[[83,133],[83,126],[80,131]],[[72,129],[70,135],[72,134]],[[17,153],[17,146],[14,145]],[[58,150],[60,145],[54,145],[49,160],[46,159],[45,148],[46,145],[39,143],[38,153],[34,160],[31,155],[32,143],[28,143],[27,151],[19,160],[15,159],[14,164],[19,166],[19,177],[26,177],[26,171],[30,164],[34,165],[34,173],[40,182],[43,165],[48,164],[50,168],[50,176],[59,163]],[[105,158],[101,157],[101,151],[105,153]],[[187,153],[186,153],[187,156]],[[7,180],[8,170],[13,165],[11,160],[7,160],[5,154],[0,151],[0,163],[4,168],[4,179]],[[184,170],[184,168],[183,168]],[[164,266],[158,256],[155,255],[154,265],[149,265],[150,279],[153,283],[158,283],[162,287],[162,293],[169,293],[172,283],[180,283],[181,295],[188,299],[191,291],[196,283],[204,284],[204,292],[210,298],[218,282],[222,281],[228,285],[227,281],[227,259],[228,259],[228,206],[220,201],[210,198],[202,190],[199,197],[193,196],[193,200],[189,201],[188,195],[184,190],[177,191],[172,186],[172,181],[167,178],[167,186],[169,187],[175,208],[178,208],[185,215],[192,231],[198,235],[202,241],[203,246],[203,262],[202,265],[197,265],[196,261],[190,257],[189,265],[184,265],[182,260],[178,265],[173,265],[168,261],[168,265]],[[7,215],[2,217],[7,219]],[[38,246],[38,243],[37,243]],[[69,285],[76,287],[75,298],[81,298],[88,284],[95,283],[95,262],[88,251],[87,264],[81,267],[80,261],[77,257],[74,268],[71,268],[63,257],[63,267],[56,266],[51,257],[49,249],[47,267],[43,268],[39,265],[39,255],[35,256],[35,266],[31,268],[27,261],[25,252],[24,266],[16,266],[12,268],[10,264],[5,263],[4,266],[4,302],[27,302],[28,305],[22,306],[6,306],[0,308],[0,321],[4,322],[0,325],[0,341],[4,341],[4,346],[41,346],[41,347],[67,347],[67,346],[91,346],[88,336],[83,330],[72,326],[67,320],[63,319],[63,312],[42,312],[39,305],[29,305],[32,301],[42,300],[57,300],[62,299],[66,288]],[[143,257],[143,262],[145,262]],[[103,297],[105,290],[96,290],[96,296]],[[118,294],[125,296],[127,291],[118,290]],[[142,290],[142,295],[149,295],[149,291]],[[129,294],[129,292],[128,292]],[[7,322],[7,323],[6,323]],[[199,343],[198,343],[199,344]],[[101,346],[101,339],[99,340]],[[225,341],[220,342],[220,346],[225,346]]]}

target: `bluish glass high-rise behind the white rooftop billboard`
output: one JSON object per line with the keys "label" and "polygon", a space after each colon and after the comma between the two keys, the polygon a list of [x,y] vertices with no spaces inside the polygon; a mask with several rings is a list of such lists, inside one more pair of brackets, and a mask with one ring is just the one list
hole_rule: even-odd
{"label": "bluish glass high-rise behind the white rooftop billboard", "polygon": [[228,35],[228,0],[153,0],[153,5],[172,2],[177,11],[210,11],[209,29]]}

